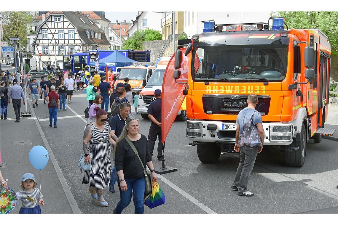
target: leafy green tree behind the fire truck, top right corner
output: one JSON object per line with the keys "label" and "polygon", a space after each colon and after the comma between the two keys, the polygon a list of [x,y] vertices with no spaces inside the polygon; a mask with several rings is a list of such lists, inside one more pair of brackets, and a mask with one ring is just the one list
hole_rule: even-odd
{"label": "leafy green tree behind the fire truck, top right corner", "polygon": [[279,11],[272,16],[285,17],[289,29],[319,29],[328,36],[332,55],[338,55],[338,12],[337,11]]}

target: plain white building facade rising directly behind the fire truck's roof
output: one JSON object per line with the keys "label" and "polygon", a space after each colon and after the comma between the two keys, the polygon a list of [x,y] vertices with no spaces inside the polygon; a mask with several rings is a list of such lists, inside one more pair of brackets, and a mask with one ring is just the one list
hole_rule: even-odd
{"label": "plain white building facade rising directly behind the fire truck's roof", "polygon": [[201,21],[214,20],[215,24],[267,23],[270,12],[197,12],[184,11],[184,32],[190,39],[203,32]]}

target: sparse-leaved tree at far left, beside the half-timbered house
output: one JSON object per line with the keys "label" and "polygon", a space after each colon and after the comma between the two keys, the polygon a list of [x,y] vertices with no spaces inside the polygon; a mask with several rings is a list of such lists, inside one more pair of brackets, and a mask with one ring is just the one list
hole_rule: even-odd
{"label": "sparse-leaved tree at far left, beside the half-timbered house", "polygon": [[[27,44],[27,28],[33,21],[32,12],[5,11],[3,16],[3,39],[18,37],[21,47]],[[11,41],[9,41],[11,42]]]}

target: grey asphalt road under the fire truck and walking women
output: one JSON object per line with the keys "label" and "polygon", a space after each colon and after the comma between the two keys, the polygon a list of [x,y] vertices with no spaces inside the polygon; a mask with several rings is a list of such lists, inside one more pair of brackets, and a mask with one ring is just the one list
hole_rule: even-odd
{"label": "grey asphalt road under the fire truck and walking women", "polygon": [[[66,104],[67,111],[57,113],[56,129],[48,126],[47,105],[42,100],[38,103],[34,112],[81,212],[112,213],[120,198],[117,185],[113,194],[104,189],[109,206],[100,207],[91,198],[88,185],[81,184],[83,174],[77,167],[83,120],[87,120],[83,115],[88,105],[86,95],[74,93],[72,103]],[[140,132],[147,136],[150,121],[134,116],[140,120]],[[249,179],[249,190],[255,193],[251,198],[238,196],[230,188],[239,154],[224,153],[218,163],[201,163],[196,147],[189,142],[185,122],[175,121],[167,137],[165,157],[166,164],[178,171],[159,176],[166,203],[153,209],[145,206],[145,213],[338,213],[335,141],[322,139],[321,143],[309,144],[302,168],[285,166],[284,152],[263,149]],[[161,166],[156,158],[153,162],[155,167]],[[134,213],[132,202],[123,213]]]}

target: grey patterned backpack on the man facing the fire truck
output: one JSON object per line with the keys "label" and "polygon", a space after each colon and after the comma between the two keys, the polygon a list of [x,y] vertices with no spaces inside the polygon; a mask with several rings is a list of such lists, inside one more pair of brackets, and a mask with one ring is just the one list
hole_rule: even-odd
{"label": "grey patterned backpack on the man facing the fire truck", "polygon": [[241,135],[241,146],[245,148],[262,147],[262,141],[259,137],[256,125],[252,124],[256,111],[252,114],[250,120],[243,125],[243,131]]}

